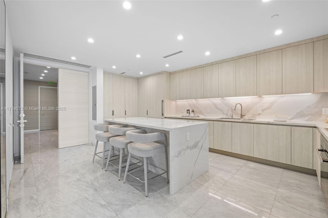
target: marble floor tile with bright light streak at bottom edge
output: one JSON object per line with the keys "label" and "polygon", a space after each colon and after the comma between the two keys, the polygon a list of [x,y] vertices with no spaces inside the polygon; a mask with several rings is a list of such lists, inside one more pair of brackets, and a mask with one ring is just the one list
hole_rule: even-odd
{"label": "marble floor tile with bright light streak at bottom edge", "polygon": [[269,213],[238,201],[227,195],[215,193],[196,213],[196,217],[262,217]]}

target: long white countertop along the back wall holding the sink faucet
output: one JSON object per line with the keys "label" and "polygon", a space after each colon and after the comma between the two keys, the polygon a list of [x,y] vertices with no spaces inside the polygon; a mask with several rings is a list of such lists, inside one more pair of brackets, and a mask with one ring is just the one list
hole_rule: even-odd
{"label": "long white countertop along the back wall holding the sink faucet", "polygon": [[273,120],[264,120],[264,119],[229,119],[229,118],[218,118],[218,117],[182,117],[182,116],[178,116],[178,115],[166,116],[166,118],[316,127],[319,130],[319,132],[321,133],[321,135],[328,141],[328,123],[325,123],[325,122],[304,121],[304,120],[273,121]]}

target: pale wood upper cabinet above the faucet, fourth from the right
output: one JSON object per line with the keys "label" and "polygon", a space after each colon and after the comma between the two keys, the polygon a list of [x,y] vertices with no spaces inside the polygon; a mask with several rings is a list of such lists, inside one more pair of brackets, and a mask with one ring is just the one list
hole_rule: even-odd
{"label": "pale wood upper cabinet above the faucet, fourth from the right", "polygon": [[256,96],[256,55],[236,60],[236,96]]}

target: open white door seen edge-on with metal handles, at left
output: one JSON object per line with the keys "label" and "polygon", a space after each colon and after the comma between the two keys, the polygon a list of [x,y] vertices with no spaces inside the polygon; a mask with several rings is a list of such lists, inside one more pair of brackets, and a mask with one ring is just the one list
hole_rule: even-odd
{"label": "open white door seen edge-on with metal handles, at left", "polygon": [[19,101],[20,101],[20,112],[19,112],[19,120],[17,120],[18,125],[20,126],[19,133],[19,144],[20,144],[20,163],[24,163],[24,54],[20,53],[20,62],[19,62]]}

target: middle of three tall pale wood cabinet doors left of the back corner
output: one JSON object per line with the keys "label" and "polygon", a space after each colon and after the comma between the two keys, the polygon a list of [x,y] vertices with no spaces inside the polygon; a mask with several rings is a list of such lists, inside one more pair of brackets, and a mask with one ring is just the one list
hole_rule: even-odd
{"label": "middle of three tall pale wood cabinet doors left of the back corner", "polygon": [[125,116],[125,77],[113,76],[114,117]]}

